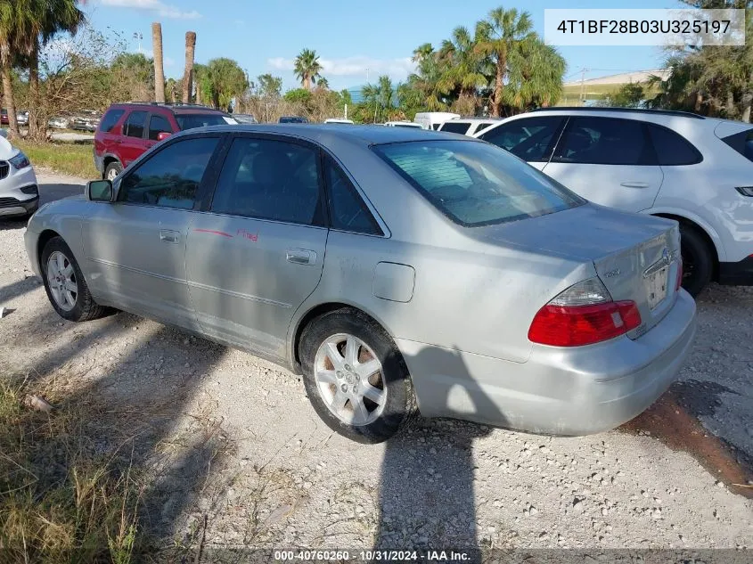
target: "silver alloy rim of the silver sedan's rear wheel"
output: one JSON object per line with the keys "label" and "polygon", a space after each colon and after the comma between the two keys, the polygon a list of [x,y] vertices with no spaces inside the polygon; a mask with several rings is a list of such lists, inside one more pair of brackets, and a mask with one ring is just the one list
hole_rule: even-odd
{"label": "silver alloy rim of the silver sedan's rear wheel", "polygon": [[348,333],[332,335],[316,352],[316,390],[330,412],[348,425],[376,421],[387,403],[387,388],[377,356]]}

